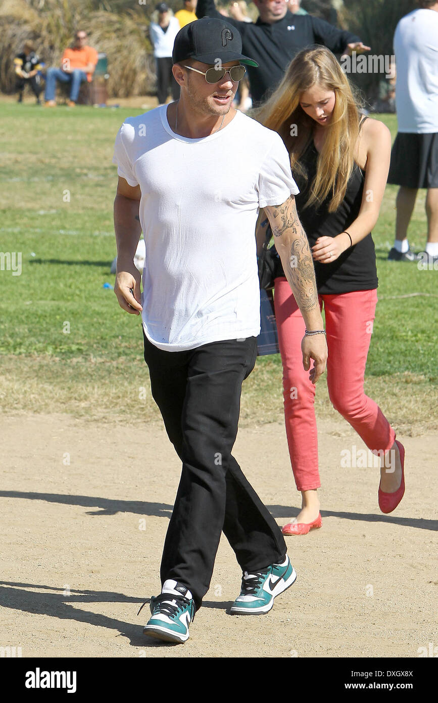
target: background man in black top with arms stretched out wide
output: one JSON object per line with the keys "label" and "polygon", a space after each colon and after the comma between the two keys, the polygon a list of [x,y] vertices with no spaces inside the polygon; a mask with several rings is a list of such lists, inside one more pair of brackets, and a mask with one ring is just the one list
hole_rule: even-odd
{"label": "background man in black top with arms stretched out wide", "polygon": [[[254,0],[260,16],[257,22],[239,22],[227,18],[241,34],[243,51],[253,56],[258,68],[247,67],[253,105],[263,103],[284,76],[286,67],[294,56],[312,44],[322,44],[333,53],[352,51],[364,53],[359,37],[351,32],[338,30],[313,15],[296,15],[288,11],[286,0]],[[222,15],[215,8],[214,0],[198,0],[197,17]]]}

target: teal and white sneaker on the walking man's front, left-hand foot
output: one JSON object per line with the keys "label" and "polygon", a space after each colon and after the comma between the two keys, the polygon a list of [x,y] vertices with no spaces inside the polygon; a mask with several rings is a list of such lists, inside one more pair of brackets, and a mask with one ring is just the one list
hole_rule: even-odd
{"label": "teal and white sneaker on the walking man's front, left-hand foot", "polygon": [[182,583],[165,581],[160,595],[151,598],[150,610],[152,617],[143,629],[144,635],[177,644],[188,640],[189,625],[194,619],[194,600]]}

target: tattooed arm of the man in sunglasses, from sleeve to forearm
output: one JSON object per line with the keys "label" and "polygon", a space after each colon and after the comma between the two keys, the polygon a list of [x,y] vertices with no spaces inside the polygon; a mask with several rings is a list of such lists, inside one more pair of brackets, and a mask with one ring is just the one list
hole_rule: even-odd
{"label": "tattooed arm of the man in sunglasses, from sleeve to forearm", "polygon": [[272,226],[272,234],[278,238],[291,241],[288,247],[288,258],[281,263],[284,275],[293,290],[298,307],[301,311],[312,310],[318,306],[317,283],[314,275],[312,252],[305,236],[305,231],[298,218],[295,198],[291,196],[280,207],[275,207],[273,217],[276,219]]}

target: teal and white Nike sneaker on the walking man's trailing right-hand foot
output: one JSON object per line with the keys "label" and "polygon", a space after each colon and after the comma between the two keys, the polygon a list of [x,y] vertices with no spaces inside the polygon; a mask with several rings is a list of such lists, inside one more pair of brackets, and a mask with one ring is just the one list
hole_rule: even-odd
{"label": "teal and white Nike sneaker on the walking man's trailing right-hand foot", "polygon": [[286,555],[283,564],[271,564],[258,572],[244,572],[240,595],[231,607],[234,615],[259,615],[267,613],[274,605],[274,598],[292,586],[296,571]]}

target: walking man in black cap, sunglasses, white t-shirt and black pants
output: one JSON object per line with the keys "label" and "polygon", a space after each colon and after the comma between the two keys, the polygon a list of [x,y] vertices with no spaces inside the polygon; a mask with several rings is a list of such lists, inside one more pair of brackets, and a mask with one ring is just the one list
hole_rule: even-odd
{"label": "walking man in black cap, sunglasses, white t-shirt and black pants", "polygon": [[[173,62],[180,100],[130,117],[117,134],[114,292],[122,309],[142,314],[152,396],[183,462],[161,594],[143,632],[182,643],[208,591],[221,531],[243,571],[232,613],[268,612],[296,579],[281,530],[231,453],[260,331],[260,207],[305,318],[303,364],[310,370],[314,359],[314,382],[326,342],[287,150],[278,134],[232,108],[255,62],[242,55],[234,27],[210,18],[180,30]],[[133,255],[141,230],[140,297]]]}

